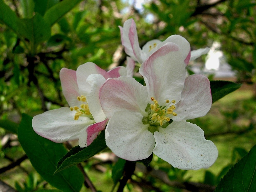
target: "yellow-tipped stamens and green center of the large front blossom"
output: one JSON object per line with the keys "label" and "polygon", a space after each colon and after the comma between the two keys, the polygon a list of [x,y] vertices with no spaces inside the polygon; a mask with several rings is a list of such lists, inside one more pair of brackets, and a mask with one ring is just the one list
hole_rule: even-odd
{"label": "yellow-tipped stamens and green center of the large front blossom", "polygon": [[173,105],[176,101],[166,100],[166,106],[159,106],[157,100],[154,97],[151,97],[151,100],[154,102],[150,104],[151,113],[148,116],[148,122],[151,125],[160,125],[162,126],[164,123],[169,122],[172,116],[176,116],[177,113],[173,112],[175,110],[175,106]]}

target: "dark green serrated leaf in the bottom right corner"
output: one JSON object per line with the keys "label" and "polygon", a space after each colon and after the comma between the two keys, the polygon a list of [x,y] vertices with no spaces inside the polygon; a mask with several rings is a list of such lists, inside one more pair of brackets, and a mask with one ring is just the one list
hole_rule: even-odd
{"label": "dark green serrated leaf in the bottom right corner", "polygon": [[256,188],[256,145],[221,179],[215,192],[254,192]]}

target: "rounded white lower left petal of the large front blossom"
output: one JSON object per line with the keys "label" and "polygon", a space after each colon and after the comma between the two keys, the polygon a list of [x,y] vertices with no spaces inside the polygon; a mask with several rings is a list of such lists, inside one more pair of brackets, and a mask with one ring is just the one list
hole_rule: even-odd
{"label": "rounded white lower left petal of the large front blossom", "polygon": [[111,151],[126,160],[137,161],[149,157],[155,146],[148,124],[127,111],[115,112],[105,131],[106,145]]}

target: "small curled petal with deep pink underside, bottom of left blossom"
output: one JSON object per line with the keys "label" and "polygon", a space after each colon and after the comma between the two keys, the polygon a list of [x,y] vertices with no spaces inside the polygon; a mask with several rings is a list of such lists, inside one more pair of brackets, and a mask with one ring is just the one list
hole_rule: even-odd
{"label": "small curled petal with deep pink underside, bottom of left blossom", "polygon": [[82,132],[80,133],[79,140],[78,140],[79,146],[80,147],[89,146],[97,137],[99,132],[105,129],[108,121],[109,120],[106,119],[102,122],[89,125],[88,127],[86,127],[86,129],[83,129]]}

